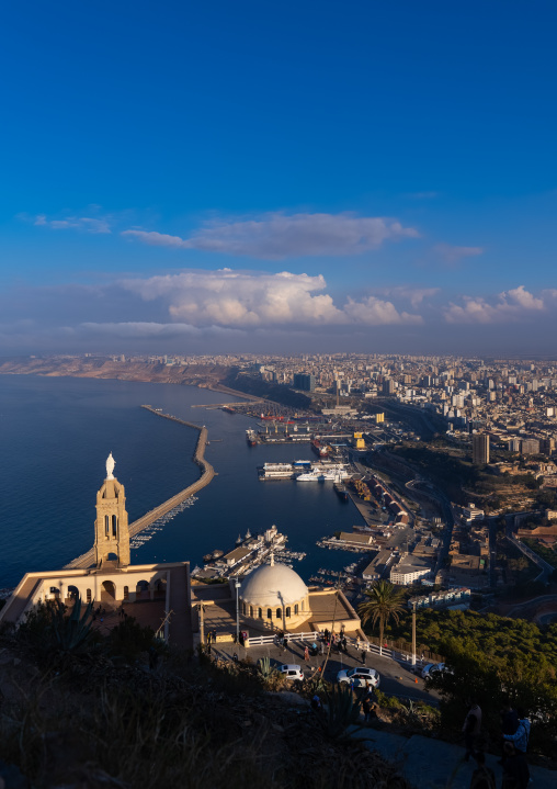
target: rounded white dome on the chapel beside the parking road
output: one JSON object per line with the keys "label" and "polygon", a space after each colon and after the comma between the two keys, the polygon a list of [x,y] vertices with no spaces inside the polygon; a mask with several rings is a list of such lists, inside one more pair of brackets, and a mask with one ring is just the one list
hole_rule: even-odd
{"label": "rounded white dome on the chapel beside the parking road", "polygon": [[299,575],[285,564],[264,564],[243,579],[240,597],[257,606],[289,606],[303,600],[308,589]]}

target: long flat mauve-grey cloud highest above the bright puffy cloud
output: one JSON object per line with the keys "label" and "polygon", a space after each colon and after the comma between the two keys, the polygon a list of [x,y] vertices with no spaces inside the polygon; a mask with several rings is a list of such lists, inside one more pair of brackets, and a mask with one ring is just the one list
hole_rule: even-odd
{"label": "long flat mauve-grey cloud highest above the bright puffy cloud", "polygon": [[280,260],[314,255],[361,255],[386,240],[417,238],[413,227],[380,216],[268,213],[253,219],[213,221],[189,238],[139,229],[124,230],[144,244],[201,249],[227,255]]}

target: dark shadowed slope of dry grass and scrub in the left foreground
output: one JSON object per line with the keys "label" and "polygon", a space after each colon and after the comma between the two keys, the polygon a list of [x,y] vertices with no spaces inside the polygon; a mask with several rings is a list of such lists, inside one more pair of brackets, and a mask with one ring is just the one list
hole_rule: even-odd
{"label": "dark shadowed slope of dry grass and scrub in the left foreground", "polygon": [[283,677],[171,663],[152,674],[82,656],[54,676],[23,661],[0,684],[0,758],[34,789],[408,789],[360,742],[323,736],[308,706],[268,694]]}

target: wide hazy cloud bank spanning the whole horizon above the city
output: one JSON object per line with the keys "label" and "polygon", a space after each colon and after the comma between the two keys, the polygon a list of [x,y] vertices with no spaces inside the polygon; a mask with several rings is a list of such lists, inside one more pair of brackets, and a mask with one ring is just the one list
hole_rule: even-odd
{"label": "wide hazy cloud bank spanning the whole horizon above the city", "polygon": [[476,342],[487,326],[498,341],[512,336],[513,327],[522,335],[528,327],[552,331],[557,305],[557,290],[533,292],[523,284],[487,296],[371,284],[342,294],[323,274],[229,268],[152,277],[105,272],[94,285],[26,288],[24,317],[22,297],[21,290],[0,296],[0,342],[12,353],[114,347],[140,352],[184,343],[198,352],[241,351],[273,341],[326,350],[331,342],[365,348],[378,338],[400,351],[405,343],[459,347],[466,337]]}

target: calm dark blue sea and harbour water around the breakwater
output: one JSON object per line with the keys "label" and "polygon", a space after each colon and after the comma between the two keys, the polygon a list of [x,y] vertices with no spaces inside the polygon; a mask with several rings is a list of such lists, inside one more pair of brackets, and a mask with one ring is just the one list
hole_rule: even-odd
{"label": "calm dark blue sea and harbour water around the breakwater", "polygon": [[308,553],[294,564],[306,581],[320,566],[352,562],[353,554],[315,544],[361,522],[332,483],[258,480],[255,469],[265,461],[314,460],[309,446],[248,447],[245,431],[255,420],[191,407],[224,399],[234,398],[193,386],[0,375],[0,587],[91,548],[109,452],[130,522],[198,477],[192,462],[197,432],[149,414],[143,403],[206,425],[206,458],[218,475],[192,507],[132,551],[133,562],[187,560],[193,567],[207,552],[231,550],[238,533],[273,523],[289,549]]}

